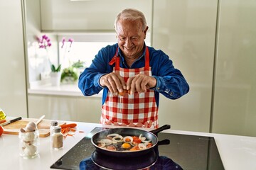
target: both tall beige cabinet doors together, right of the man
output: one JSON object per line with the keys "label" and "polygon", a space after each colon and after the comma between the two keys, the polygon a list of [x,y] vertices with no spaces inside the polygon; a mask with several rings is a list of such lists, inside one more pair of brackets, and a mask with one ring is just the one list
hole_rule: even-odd
{"label": "both tall beige cabinet doors together, right of the man", "polygon": [[152,45],[191,87],[176,101],[161,96],[159,123],[256,136],[255,8],[255,1],[241,0],[154,3]]}

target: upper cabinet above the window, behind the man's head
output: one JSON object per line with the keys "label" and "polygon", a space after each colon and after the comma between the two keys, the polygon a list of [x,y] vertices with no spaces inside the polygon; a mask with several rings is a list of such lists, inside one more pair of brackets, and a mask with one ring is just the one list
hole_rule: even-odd
{"label": "upper cabinet above the window, behind the man's head", "polygon": [[43,31],[114,31],[114,19],[124,8],[144,12],[151,26],[152,0],[41,0]]}

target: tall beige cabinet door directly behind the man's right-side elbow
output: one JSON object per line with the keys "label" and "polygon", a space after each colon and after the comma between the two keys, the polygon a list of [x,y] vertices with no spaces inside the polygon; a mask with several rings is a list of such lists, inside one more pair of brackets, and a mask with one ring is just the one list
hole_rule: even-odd
{"label": "tall beige cabinet door directly behind the man's right-side elbow", "polygon": [[190,86],[176,101],[161,96],[160,125],[209,132],[217,2],[154,1],[152,45],[169,55]]}

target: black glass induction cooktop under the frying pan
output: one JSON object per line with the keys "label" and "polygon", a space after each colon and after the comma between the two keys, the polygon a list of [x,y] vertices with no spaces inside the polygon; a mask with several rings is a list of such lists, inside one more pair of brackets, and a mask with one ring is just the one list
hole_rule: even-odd
{"label": "black glass induction cooktop under the frying pan", "polygon": [[169,144],[159,145],[143,157],[123,159],[105,157],[95,152],[90,137],[104,128],[95,128],[78,144],[60,157],[52,169],[188,169],[222,170],[218,148],[213,137],[179,135],[159,132],[159,141],[169,140]]}

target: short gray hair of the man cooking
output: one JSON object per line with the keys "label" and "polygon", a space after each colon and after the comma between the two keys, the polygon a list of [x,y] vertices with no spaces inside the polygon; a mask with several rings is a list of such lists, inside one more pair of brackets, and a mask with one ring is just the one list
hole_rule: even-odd
{"label": "short gray hair of the man cooking", "polygon": [[136,21],[140,20],[142,21],[142,30],[146,29],[146,18],[144,14],[141,11],[138,11],[134,8],[126,8],[120,13],[118,13],[117,18],[114,21],[114,29],[117,31],[117,22],[120,20],[130,20],[130,21]]}

